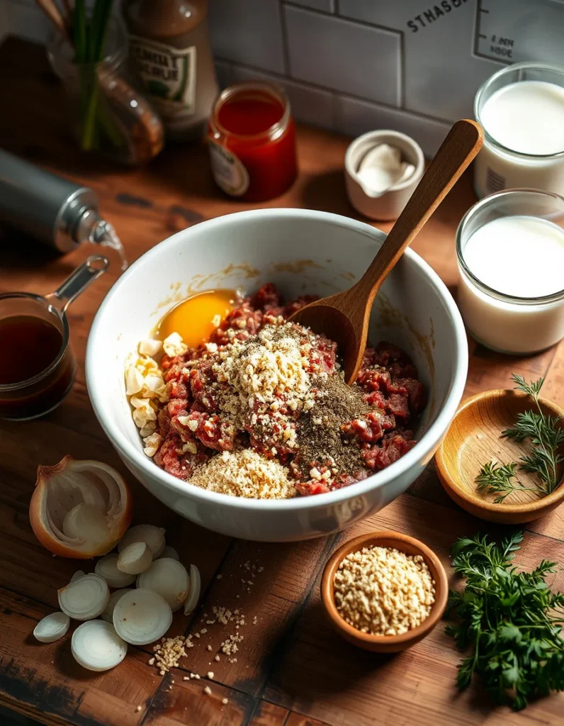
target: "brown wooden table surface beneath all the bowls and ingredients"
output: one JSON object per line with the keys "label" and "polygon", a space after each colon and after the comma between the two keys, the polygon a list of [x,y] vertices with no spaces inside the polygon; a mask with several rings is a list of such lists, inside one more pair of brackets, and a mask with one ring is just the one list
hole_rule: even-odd
{"label": "brown wooden table surface beneath all the bowls and ingredients", "polygon": [[[202,219],[249,208],[218,195],[203,147],[169,147],[150,166],[122,169],[86,159],[65,126],[59,89],[44,51],[21,41],[0,50],[0,146],[96,190],[102,213],[118,230],[130,261],[173,232]],[[293,189],[266,206],[309,207],[355,216],[343,184],[348,139],[310,128],[298,134],[301,174]],[[473,204],[466,174],[422,230],[412,247],[441,275],[456,295],[454,232]],[[388,230],[390,224],[381,224]],[[0,236],[0,291],[49,293],[92,250],[52,258],[25,245],[12,232]],[[110,256],[113,253],[110,252]],[[410,724],[562,723],[564,696],[556,695],[514,714],[493,709],[477,688],[457,693],[459,654],[437,627],[422,643],[399,656],[354,649],[334,635],[319,600],[322,567],[338,544],[364,531],[395,529],[422,539],[446,565],[451,543],[478,529],[493,531],[446,496],[433,466],[409,492],[350,531],[293,544],[256,544],[213,534],[160,505],[134,481],[97,423],[84,383],[86,337],[94,313],[119,274],[110,272],[70,309],[78,377],[62,406],[41,420],[0,422],[0,703],[47,724],[77,726],[376,726]],[[512,372],[526,378],[546,375],[544,395],[564,405],[564,343],[542,354],[509,357],[491,353],[473,340],[466,395],[503,388]],[[0,351],[4,354],[5,351]],[[53,558],[33,537],[28,502],[38,464],[54,464],[65,454],[115,466],[134,490],[135,519],[167,530],[167,542],[184,563],[199,566],[203,597],[189,619],[176,613],[173,632],[198,632],[213,605],[241,608],[246,624],[237,662],[213,652],[228,629],[208,633],[188,651],[181,667],[160,677],[147,664],[150,647],[133,648],[117,668],[94,674],[75,664],[70,634],[52,645],[31,635],[38,619],[57,608],[57,588],[81,566]],[[564,562],[563,512],[533,522],[518,561],[531,566],[547,555]],[[253,586],[245,563],[263,568]],[[89,566],[90,563],[86,563]],[[557,574],[554,587],[564,589]],[[250,592],[249,592],[250,590]],[[211,665],[210,665],[211,662]],[[203,680],[183,680],[189,672],[213,671],[211,696]],[[222,703],[224,698],[229,701]]]}

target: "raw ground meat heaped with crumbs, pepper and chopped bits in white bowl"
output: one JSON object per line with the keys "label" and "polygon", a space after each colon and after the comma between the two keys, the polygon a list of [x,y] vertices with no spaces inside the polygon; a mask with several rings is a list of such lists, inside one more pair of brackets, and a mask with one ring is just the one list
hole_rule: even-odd
{"label": "raw ground meat heaped with crumbs, pepper and chopped bits in white bowl", "polygon": [[164,354],[142,341],[126,393],[145,454],[205,489],[286,499],[348,486],[408,452],[426,400],[409,356],[369,346],[347,386],[335,341],[287,320],[310,301],[285,305],[267,283],[195,348],[178,333]]}

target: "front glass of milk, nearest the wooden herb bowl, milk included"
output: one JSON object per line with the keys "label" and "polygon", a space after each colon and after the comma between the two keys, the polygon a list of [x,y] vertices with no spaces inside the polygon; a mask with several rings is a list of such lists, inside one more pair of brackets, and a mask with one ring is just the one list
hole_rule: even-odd
{"label": "front glass of milk, nearest the wooden herb bowl, milk included", "polygon": [[564,198],[510,189],[476,203],[457,229],[458,306],[494,351],[530,354],[564,337]]}

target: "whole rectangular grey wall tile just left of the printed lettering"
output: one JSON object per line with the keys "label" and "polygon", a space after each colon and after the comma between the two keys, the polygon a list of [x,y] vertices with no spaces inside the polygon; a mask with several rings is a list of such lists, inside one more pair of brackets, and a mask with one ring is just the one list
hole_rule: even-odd
{"label": "whole rectangular grey wall tile just left of the printed lettering", "polygon": [[290,76],[399,105],[399,33],[290,5],[284,11]]}

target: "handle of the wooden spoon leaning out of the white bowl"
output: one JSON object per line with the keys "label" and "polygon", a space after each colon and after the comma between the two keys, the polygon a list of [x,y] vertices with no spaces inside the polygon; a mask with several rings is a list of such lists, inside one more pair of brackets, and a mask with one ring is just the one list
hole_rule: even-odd
{"label": "handle of the wooden spoon leaning out of the white bowl", "polygon": [[457,121],[451,128],[372,264],[354,285],[356,294],[366,295],[369,305],[388,272],[473,160],[482,142],[483,131],[475,121]]}

